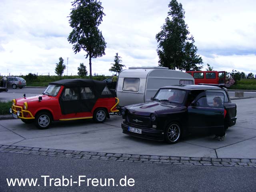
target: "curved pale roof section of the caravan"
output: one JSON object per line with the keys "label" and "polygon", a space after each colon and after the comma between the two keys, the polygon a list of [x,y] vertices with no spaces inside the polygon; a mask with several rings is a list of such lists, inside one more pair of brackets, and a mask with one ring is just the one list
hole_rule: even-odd
{"label": "curved pale roof section of the caravan", "polygon": [[152,77],[194,79],[188,73],[178,70],[169,70],[167,67],[129,67],[128,69],[122,70],[118,77],[147,78],[148,75]]}

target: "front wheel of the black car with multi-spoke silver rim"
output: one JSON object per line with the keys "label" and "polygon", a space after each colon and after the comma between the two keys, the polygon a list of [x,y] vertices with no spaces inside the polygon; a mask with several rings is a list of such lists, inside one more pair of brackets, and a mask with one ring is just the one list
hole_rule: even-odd
{"label": "front wheel of the black car with multi-spoke silver rim", "polygon": [[164,130],[165,141],[169,144],[177,143],[181,138],[182,129],[177,122],[169,123]]}

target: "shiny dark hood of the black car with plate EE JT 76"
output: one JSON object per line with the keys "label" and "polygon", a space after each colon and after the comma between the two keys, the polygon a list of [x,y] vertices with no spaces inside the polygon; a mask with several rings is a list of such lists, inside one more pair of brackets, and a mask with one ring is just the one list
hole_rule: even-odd
{"label": "shiny dark hood of the black car with plate EE JT 76", "polygon": [[130,111],[132,114],[139,114],[141,112],[143,113],[152,113],[152,112],[158,112],[160,110],[166,110],[171,108],[179,107],[175,104],[170,104],[168,102],[149,102],[149,103],[140,103],[140,104],[134,104],[126,106],[125,108]]}

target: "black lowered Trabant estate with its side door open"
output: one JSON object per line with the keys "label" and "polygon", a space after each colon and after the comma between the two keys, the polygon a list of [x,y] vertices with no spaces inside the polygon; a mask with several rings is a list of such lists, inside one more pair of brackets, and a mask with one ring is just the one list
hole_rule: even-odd
{"label": "black lowered Trabant estate with its side door open", "polygon": [[174,144],[190,133],[219,134],[236,124],[236,104],[224,88],[206,85],[162,87],[151,102],[121,110],[123,133]]}

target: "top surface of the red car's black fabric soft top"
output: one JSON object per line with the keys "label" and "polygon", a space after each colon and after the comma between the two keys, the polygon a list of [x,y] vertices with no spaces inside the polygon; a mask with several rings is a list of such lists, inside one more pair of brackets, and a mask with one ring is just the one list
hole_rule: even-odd
{"label": "top surface of the red car's black fabric soft top", "polygon": [[100,86],[104,87],[106,86],[105,82],[92,80],[92,79],[62,79],[59,81],[51,82],[49,85],[63,85],[68,87],[77,87],[77,86]]}

